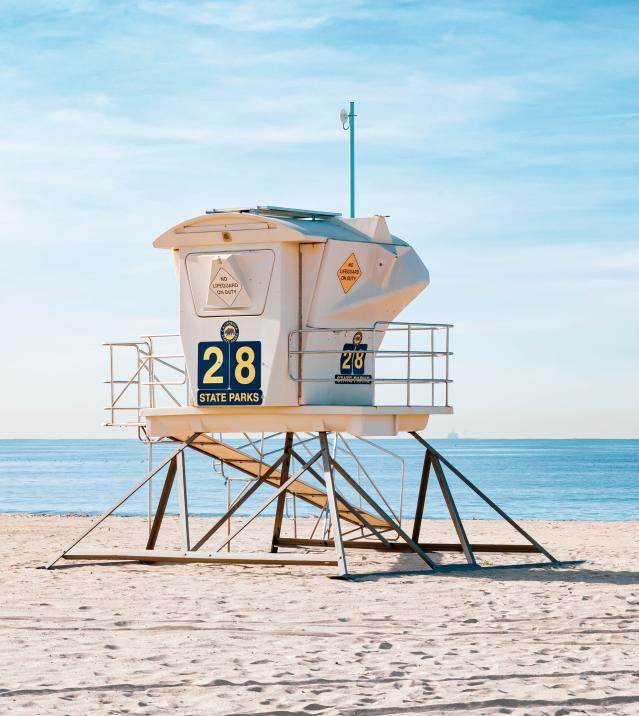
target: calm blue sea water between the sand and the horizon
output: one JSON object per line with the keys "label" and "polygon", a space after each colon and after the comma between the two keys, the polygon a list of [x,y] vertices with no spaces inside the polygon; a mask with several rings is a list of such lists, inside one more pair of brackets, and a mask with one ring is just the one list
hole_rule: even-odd
{"label": "calm blue sea water between the sand and the horizon", "polygon": [[[377,442],[404,459],[403,509],[404,516],[410,517],[423,449],[413,439]],[[398,512],[400,462],[364,442],[353,439],[349,444]],[[639,440],[433,440],[432,444],[517,519],[639,520]],[[156,464],[171,449],[156,446]],[[352,458],[340,454],[339,459],[351,474],[367,481],[361,470],[358,475]],[[100,514],[146,472],[147,448],[135,440],[0,440],[0,511]],[[191,513],[222,514],[225,480],[212,461],[189,454],[187,475]],[[463,517],[495,516],[457,478],[450,475],[449,482]],[[161,477],[155,478],[155,499],[160,485]],[[434,480],[429,485],[426,516],[443,518],[446,507],[435,485]],[[233,493],[240,487],[232,483]],[[249,514],[269,493],[269,488],[258,491],[241,514]],[[146,509],[147,493],[141,491],[118,514],[146,514]],[[175,495],[169,510],[177,510]],[[299,503],[298,514],[308,514]]]}

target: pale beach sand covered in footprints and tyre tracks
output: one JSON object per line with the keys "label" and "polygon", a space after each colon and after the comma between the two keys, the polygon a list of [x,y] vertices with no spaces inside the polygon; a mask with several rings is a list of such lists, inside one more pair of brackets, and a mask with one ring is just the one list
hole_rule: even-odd
{"label": "pale beach sand covered in footprints and tyre tracks", "polygon": [[[639,713],[639,523],[523,523],[558,558],[587,560],[566,569],[353,582],[317,566],[37,569],[87,524],[0,515],[1,713]],[[495,525],[467,524],[471,539],[517,541]],[[139,545],[145,529],[111,518],[94,544]],[[270,529],[241,546],[268,545]],[[425,522],[431,538],[452,541],[449,526]],[[357,573],[419,567],[348,556]]]}

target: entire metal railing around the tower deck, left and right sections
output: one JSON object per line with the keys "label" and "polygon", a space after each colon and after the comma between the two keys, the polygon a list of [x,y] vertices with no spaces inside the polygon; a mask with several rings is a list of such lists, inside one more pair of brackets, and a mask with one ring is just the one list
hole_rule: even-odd
{"label": "entire metal railing around the tower deck, left and right sections", "polygon": [[[366,350],[372,356],[370,375],[364,376],[375,390],[373,404],[383,403],[383,387],[389,386],[391,402],[408,406],[449,406],[450,356],[449,324],[377,321],[362,328],[304,328],[288,337],[289,377],[299,384],[335,383],[337,359],[314,362],[311,374],[305,367],[311,356],[340,356],[343,348],[309,347],[309,339],[322,334],[343,337],[344,343],[361,331]],[[156,333],[137,341],[105,343],[108,349],[109,405],[105,425],[136,427],[148,442],[142,411],[146,408],[189,404],[189,379],[178,333]],[[381,348],[384,341],[384,348]],[[171,343],[173,344],[171,346]],[[317,343],[317,341],[315,341]],[[306,344],[306,345],[305,345]],[[333,342],[334,345],[334,342]],[[117,365],[116,365],[117,364]],[[399,368],[398,368],[399,364]],[[295,372],[295,369],[297,372]],[[397,386],[404,386],[403,403],[398,401]],[[422,390],[419,402],[415,399]]]}

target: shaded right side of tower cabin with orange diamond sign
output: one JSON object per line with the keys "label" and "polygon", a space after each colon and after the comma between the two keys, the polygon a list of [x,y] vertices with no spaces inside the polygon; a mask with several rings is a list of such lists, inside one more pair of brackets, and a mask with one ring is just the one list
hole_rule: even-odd
{"label": "shaded right side of tower cabin with orange diamond sign", "polygon": [[368,351],[384,333],[366,329],[394,320],[426,288],[428,271],[409,246],[328,240],[304,246],[302,256],[304,326],[331,330],[303,336],[300,402],[373,405]]}

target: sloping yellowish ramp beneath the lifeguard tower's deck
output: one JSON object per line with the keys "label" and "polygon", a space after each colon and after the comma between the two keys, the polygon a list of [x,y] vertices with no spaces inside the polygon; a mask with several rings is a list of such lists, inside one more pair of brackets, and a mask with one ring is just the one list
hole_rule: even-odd
{"label": "sloping yellowish ramp beneath the lifeguard tower's deck", "polygon": [[[177,438],[173,439],[178,441]],[[216,440],[208,435],[199,435],[189,444],[188,447],[196,452],[215,458],[216,460],[221,460],[229,467],[234,467],[245,475],[255,479],[264,475],[271,467],[267,463],[262,462],[252,455],[248,455],[247,453],[234,448],[232,445]],[[266,478],[265,482],[277,488],[280,486],[281,477],[282,475],[280,471],[274,470]],[[314,507],[318,507],[320,509],[325,509],[326,507],[326,492],[322,490],[319,485],[315,487],[314,485],[310,485],[303,480],[297,480],[288,488],[288,492],[295,495],[295,497],[300,500],[313,505]],[[349,509],[341,500],[338,499],[337,502],[338,512],[341,519],[354,525],[362,525],[362,520],[360,520],[351,509]],[[357,512],[361,514],[369,524],[375,527],[375,529],[392,529],[391,525],[380,519],[377,515],[372,515],[359,507],[357,508]]]}

